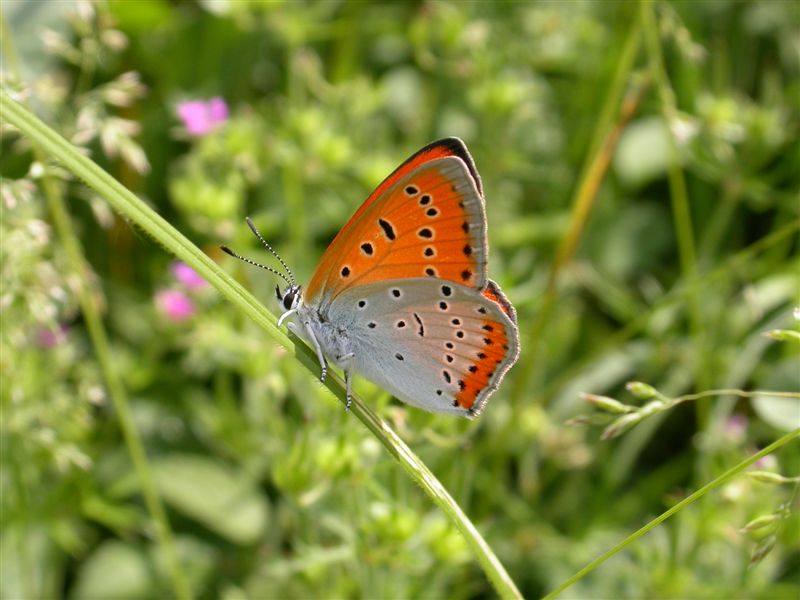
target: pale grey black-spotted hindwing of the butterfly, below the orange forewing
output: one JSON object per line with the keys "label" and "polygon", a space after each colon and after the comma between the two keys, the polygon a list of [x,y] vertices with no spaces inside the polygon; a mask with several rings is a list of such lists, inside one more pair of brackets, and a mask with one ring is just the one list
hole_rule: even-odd
{"label": "pale grey black-spotted hindwing of the butterfly, below the orange forewing", "polygon": [[[353,371],[419,408],[463,416],[480,412],[515,362],[516,326],[479,291],[435,278],[357,286],[330,305],[327,320],[347,330]],[[476,356],[486,320],[504,328],[508,347],[471,410],[454,403]]]}

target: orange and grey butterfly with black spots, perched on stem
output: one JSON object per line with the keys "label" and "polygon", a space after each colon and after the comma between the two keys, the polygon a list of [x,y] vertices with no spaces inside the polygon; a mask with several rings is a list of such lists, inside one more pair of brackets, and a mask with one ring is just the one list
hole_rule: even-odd
{"label": "orange and grey butterfly with black spots, perched on stem", "polygon": [[308,286],[279,275],[278,320],[311,344],[321,379],[358,373],[431,412],[477,416],[519,355],[514,307],[487,277],[483,187],[464,142],[435,141],[366,199],[322,255]]}

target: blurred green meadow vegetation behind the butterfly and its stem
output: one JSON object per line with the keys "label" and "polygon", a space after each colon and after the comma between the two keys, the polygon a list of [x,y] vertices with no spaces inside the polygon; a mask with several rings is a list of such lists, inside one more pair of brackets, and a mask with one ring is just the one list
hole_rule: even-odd
{"label": "blurred green meadow vegetation behind the butterfly and its stem", "polygon": [[[800,390],[799,6],[6,1],[3,88],[275,310],[218,251],[269,260],[245,215],[307,281],[463,138],[520,361],[474,422],[357,391],[536,597],[800,427],[737,391]],[[493,593],[313,375],[5,122],[1,173],[2,598]],[[796,598],[797,442],[755,468],[563,596]]]}

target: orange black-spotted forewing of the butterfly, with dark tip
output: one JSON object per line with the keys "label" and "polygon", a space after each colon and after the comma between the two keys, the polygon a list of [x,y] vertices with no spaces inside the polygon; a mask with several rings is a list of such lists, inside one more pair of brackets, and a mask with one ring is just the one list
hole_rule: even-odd
{"label": "orange black-spotted forewing of the butterfly, with dark tip", "polygon": [[486,260],[480,181],[463,144],[445,140],[373,192],[326,250],[306,298],[324,304],[355,285],[413,277],[482,289]]}

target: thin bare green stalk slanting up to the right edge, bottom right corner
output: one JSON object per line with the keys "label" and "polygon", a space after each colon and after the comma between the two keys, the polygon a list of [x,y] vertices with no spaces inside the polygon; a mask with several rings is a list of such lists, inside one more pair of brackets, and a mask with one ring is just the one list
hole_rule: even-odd
{"label": "thin bare green stalk slanting up to the right edge, bottom right corner", "polygon": [[675,513],[680,512],[681,510],[683,510],[684,508],[686,508],[687,506],[689,506],[693,502],[699,500],[700,498],[702,498],[703,496],[708,494],[710,491],[712,491],[712,490],[718,488],[719,486],[721,486],[723,483],[726,483],[728,480],[730,480],[734,476],[736,476],[739,473],[741,473],[742,471],[744,471],[747,467],[752,465],[754,462],[756,462],[760,458],[763,458],[767,454],[772,454],[773,452],[775,452],[779,448],[785,446],[786,444],[788,444],[792,440],[796,439],[797,437],[800,437],[800,428],[797,428],[797,429],[795,429],[793,431],[790,431],[789,433],[787,433],[786,435],[784,435],[780,439],[778,439],[778,440],[774,441],[773,443],[771,443],[766,448],[764,448],[761,451],[756,452],[752,456],[744,459],[743,461],[738,463],[736,466],[731,467],[730,469],[725,471],[722,475],[720,475],[719,477],[716,477],[715,479],[711,480],[706,485],[701,487],[699,490],[697,490],[693,494],[687,496],[686,498],[684,498],[683,500],[678,502],[675,506],[673,506],[669,510],[666,510],[663,513],[661,513],[655,519],[650,521],[647,525],[645,525],[641,529],[638,529],[637,531],[635,531],[634,533],[632,533],[631,535],[626,537],[619,544],[617,544],[616,546],[614,546],[610,550],[608,550],[608,551],[604,552],[603,554],[601,554],[600,556],[598,556],[596,559],[594,559],[588,565],[583,567],[580,571],[575,573],[572,577],[567,579],[564,583],[562,583],[560,586],[558,586],[552,592],[550,592],[549,594],[544,596],[543,600],[551,600],[552,598],[557,597],[561,592],[563,592],[564,590],[566,590],[571,585],[577,583],[578,581],[580,581],[581,579],[586,577],[586,575],[588,575],[589,573],[594,571],[598,566],[600,566],[605,561],[607,561],[609,558],[612,558],[614,555],[616,555],[619,552],[621,552],[622,550],[624,550],[627,546],[631,545],[633,542],[638,540],[640,537],[642,537],[644,534],[649,532],[651,529],[654,529],[655,527],[657,527],[658,525],[660,525],[661,523],[663,523],[664,521],[669,519],[672,515],[674,515]]}

